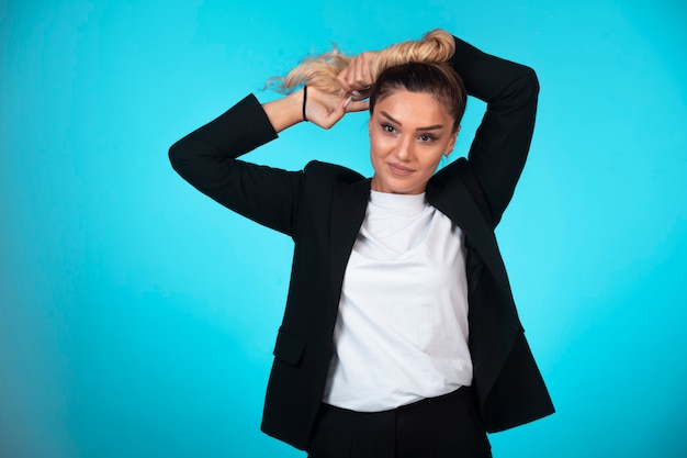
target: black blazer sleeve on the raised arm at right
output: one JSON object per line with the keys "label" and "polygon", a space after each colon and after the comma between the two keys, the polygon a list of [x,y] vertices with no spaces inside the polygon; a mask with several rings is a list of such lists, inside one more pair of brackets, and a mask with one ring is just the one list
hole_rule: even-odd
{"label": "black blazer sleeve on the raised arm at right", "polygon": [[487,103],[470,147],[468,164],[488,205],[494,227],[513,198],[529,152],[539,81],[534,70],[475,48],[454,37],[451,65],[470,96]]}

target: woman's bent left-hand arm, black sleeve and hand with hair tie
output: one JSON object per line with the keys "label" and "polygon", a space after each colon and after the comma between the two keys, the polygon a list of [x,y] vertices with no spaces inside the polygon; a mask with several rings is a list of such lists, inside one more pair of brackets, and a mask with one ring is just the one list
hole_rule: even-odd
{"label": "woman's bent left-hand arm, black sleeve and hand with hair tie", "polygon": [[[302,172],[236,160],[277,138],[301,121],[303,89],[260,104],[249,96],[224,114],[196,129],[169,149],[172,167],[199,191],[228,209],[275,231],[293,235]],[[368,108],[316,88],[307,89],[305,115],[329,129],[347,112]]]}

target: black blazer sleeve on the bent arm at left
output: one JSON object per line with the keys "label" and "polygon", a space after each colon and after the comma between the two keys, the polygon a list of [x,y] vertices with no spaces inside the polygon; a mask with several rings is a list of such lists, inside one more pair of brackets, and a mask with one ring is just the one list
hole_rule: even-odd
{"label": "black blazer sleeve on the bent arm at left", "polygon": [[169,149],[172,167],[199,191],[267,227],[293,236],[302,172],[236,158],[277,138],[254,94]]}

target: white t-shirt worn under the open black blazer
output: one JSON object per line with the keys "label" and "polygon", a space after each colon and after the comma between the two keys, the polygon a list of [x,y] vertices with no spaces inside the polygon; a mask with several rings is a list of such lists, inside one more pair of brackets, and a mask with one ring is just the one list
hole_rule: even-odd
{"label": "white t-shirt worn under the open black blazer", "polygon": [[461,230],[425,194],[371,191],[323,401],[379,412],[472,383]]}

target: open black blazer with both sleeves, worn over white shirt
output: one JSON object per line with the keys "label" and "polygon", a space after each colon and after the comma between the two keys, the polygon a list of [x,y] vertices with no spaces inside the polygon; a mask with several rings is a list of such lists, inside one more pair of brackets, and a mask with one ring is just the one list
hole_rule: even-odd
{"label": "open black blazer with both sleeves, worn over white shirt", "polygon": [[[496,432],[553,413],[494,236],[527,158],[539,83],[528,67],[459,38],[455,44],[451,64],[487,110],[468,159],[435,174],[426,196],[465,234],[473,387],[486,429]],[[371,180],[319,161],[286,171],[236,159],[275,137],[262,107],[248,96],[172,145],[170,160],[200,191],[294,241],[262,431],[304,449],[324,393],[344,273]]]}

